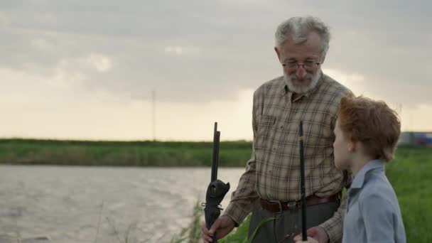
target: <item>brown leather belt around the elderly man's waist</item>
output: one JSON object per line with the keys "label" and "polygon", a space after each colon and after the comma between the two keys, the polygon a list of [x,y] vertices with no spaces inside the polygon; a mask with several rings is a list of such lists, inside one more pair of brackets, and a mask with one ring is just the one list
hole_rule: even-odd
{"label": "brown leather belt around the elderly man's waist", "polygon": [[[328,198],[319,198],[316,195],[310,195],[306,198],[306,206],[318,205],[328,202],[338,202],[339,193],[331,195]],[[261,198],[261,207],[270,212],[282,212],[285,210],[297,210],[301,207],[301,200],[291,202],[281,202],[278,200],[265,200]]]}

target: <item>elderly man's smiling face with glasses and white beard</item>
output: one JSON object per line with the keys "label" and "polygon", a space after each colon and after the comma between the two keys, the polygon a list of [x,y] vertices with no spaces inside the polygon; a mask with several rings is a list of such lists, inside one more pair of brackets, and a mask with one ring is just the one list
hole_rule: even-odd
{"label": "elderly man's smiling face with glasses and white beard", "polygon": [[285,65],[284,77],[291,91],[302,94],[315,87],[320,78],[320,64],[324,60],[320,47],[320,36],[312,32],[306,43],[296,44],[288,39],[281,50],[275,48],[280,62]]}

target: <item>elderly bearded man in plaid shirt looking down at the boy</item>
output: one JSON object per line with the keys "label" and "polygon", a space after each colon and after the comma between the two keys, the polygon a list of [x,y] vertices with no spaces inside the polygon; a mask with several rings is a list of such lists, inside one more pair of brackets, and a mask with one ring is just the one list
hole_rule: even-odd
{"label": "elderly bearded man in plaid shirt looking down at the boy", "polygon": [[313,17],[295,17],[276,30],[276,50],[284,75],[254,92],[252,158],[224,215],[204,242],[224,237],[252,211],[253,242],[293,242],[301,232],[298,124],[303,121],[308,235],[339,242],[346,202],[340,193],[347,175],[333,163],[333,129],[341,97],[350,93],[321,70],[328,50],[328,27]]}

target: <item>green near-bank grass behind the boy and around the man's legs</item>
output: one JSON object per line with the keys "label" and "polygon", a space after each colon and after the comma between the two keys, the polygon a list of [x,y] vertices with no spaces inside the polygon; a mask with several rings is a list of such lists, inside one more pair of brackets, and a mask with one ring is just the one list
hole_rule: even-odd
{"label": "green near-bank grass behind the boy and around the man's legs", "polygon": [[[399,198],[407,242],[432,242],[432,148],[399,148],[386,173]],[[202,224],[202,213],[196,212],[195,220],[185,229],[186,232],[195,229],[195,234],[190,236],[196,237],[183,235],[183,240],[173,239],[173,242],[198,242],[200,235],[196,234],[196,229]],[[248,228],[249,217],[237,231],[218,242],[247,243]]]}

